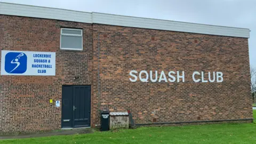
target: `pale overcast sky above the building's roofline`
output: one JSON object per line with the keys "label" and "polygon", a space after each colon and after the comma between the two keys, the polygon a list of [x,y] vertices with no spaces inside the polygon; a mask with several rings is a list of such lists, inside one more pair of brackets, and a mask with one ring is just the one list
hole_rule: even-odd
{"label": "pale overcast sky above the building's roofline", "polygon": [[256,68],[256,0],[0,0],[85,12],[249,28],[250,64]]}

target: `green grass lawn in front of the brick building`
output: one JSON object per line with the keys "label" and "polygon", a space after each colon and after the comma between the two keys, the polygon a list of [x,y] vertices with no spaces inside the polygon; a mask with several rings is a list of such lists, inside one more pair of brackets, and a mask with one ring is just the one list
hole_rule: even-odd
{"label": "green grass lawn in front of the brick building", "polygon": [[[256,118],[256,110],[253,110]],[[118,132],[0,140],[0,143],[255,143],[256,123],[140,127]]]}

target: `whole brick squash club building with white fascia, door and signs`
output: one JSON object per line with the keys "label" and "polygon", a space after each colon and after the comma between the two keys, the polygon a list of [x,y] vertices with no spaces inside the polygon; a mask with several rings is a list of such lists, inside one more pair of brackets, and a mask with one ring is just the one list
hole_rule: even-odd
{"label": "whole brick squash club building with white fascia, door and signs", "polygon": [[0,133],[95,127],[104,109],[137,125],[251,123],[249,33],[0,3]]}

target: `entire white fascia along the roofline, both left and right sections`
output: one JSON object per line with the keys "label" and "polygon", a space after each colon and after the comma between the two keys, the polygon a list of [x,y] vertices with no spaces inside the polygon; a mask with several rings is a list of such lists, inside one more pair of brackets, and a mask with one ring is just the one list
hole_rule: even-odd
{"label": "entire white fascia along the roofline, both left and right sections", "polygon": [[90,13],[13,3],[0,2],[0,14],[83,23],[99,23],[113,26],[180,31],[185,33],[250,38],[250,29],[247,28],[203,25],[199,23],[129,17],[97,12]]}

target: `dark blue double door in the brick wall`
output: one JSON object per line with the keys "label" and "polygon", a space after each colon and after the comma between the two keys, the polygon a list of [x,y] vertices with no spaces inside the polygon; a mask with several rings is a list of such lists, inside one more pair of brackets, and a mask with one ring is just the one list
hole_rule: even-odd
{"label": "dark blue double door in the brick wall", "polygon": [[61,127],[89,127],[91,115],[90,86],[62,86]]}

